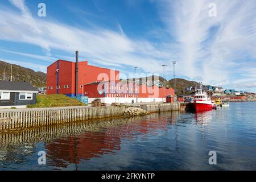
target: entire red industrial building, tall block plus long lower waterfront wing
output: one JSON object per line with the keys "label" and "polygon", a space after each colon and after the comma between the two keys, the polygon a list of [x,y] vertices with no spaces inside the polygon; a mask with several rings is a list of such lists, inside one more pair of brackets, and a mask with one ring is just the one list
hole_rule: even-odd
{"label": "entire red industrial building, tall block plus long lower waterfront wing", "polygon": [[119,80],[119,71],[94,67],[88,65],[88,61],[79,62],[77,68],[75,62],[64,60],[57,60],[49,65],[47,67],[47,94],[61,93],[69,97],[88,96],[89,102],[95,98],[101,98],[102,102],[108,104],[113,102],[173,101],[170,99],[174,97],[172,88],[123,82]]}

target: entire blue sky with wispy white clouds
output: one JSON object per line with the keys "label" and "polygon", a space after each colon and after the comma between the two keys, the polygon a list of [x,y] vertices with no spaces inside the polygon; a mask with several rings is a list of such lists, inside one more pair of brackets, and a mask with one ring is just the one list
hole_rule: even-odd
{"label": "entire blue sky with wispy white clouds", "polygon": [[[46,16],[39,16],[39,3]],[[1,0],[0,60],[47,71],[57,59],[256,92],[254,0]]]}

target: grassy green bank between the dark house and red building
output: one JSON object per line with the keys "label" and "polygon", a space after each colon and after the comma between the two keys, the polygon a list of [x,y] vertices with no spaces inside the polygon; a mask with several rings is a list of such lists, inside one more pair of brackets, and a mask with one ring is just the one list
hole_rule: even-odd
{"label": "grassy green bank between the dark house and red building", "polygon": [[35,105],[27,105],[27,108],[38,107],[65,107],[65,106],[83,106],[84,104],[75,98],[67,97],[63,94],[38,95]]}

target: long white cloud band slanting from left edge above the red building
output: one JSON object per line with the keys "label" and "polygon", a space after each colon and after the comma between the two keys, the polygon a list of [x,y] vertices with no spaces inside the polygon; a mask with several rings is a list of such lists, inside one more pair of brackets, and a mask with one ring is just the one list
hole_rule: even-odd
{"label": "long white cloud band slanting from left edge above the red building", "polygon": [[[27,9],[24,11],[29,14]],[[162,59],[163,55],[171,54],[147,40],[128,38],[121,26],[119,26],[121,33],[101,27],[81,29],[28,16],[30,21],[26,22],[27,19],[18,13],[0,10],[0,26],[7,24],[9,28],[8,31],[1,31],[0,39],[30,43],[67,53],[79,50],[80,55],[86,55],[88,59],[94,61],[98,60],[100,64],[103,62],[106,65],[122,64],[131,68],[137,66],[146,72],[154,73],[162,71],[158,59]],[[34,33],[32,30],[40,31]]]}

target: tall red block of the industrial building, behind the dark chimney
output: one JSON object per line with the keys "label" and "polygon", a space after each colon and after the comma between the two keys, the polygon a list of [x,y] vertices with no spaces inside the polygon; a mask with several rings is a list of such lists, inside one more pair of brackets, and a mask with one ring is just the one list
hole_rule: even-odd
{"label": "tall red block of the industrial building, behind the dark chimney", "polygon": [[[78,95],[83,95],[84,86],[90,82],[101,81],[102,73],[111,81],[119,81],[119,71],[94,67],[88,65],[88,61],[79,62]],[[57,60],[47,67],[47,94],[61,93],[67,96],[75,96],[76,93],[76,63]]]}

